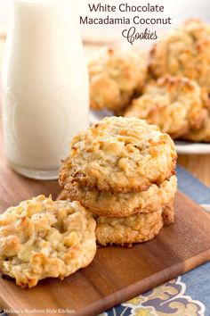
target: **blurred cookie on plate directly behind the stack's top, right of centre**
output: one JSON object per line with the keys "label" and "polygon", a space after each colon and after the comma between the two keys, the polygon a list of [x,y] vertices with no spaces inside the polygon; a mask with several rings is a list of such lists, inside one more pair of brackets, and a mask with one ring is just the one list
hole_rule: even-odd
{"label": "blurred cookie on plate directly behind the stack's top, right of centre", "polygon": [[125,117],[137,117],[156,124],[171,137],[199,129],[207,117],[207,94],[198,84],[183,77],[166,76],[151,82],[144,95],[134,99]]}

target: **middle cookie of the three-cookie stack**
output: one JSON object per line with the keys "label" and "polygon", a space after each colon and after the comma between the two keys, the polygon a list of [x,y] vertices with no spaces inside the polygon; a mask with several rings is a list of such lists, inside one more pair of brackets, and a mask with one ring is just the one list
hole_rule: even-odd
{"label": "middle cookie of the three-cookie stack", "polygon": [[137,193],[89,190],[75,182],[65,187],[63,197],[69,197],[71,201],[80,201],[87,210],[102,216],[125,217],[139,212],[157,212],[174,198],[176,189],[176,176],[164,181],[160,187],[151,185],[148,191]]}

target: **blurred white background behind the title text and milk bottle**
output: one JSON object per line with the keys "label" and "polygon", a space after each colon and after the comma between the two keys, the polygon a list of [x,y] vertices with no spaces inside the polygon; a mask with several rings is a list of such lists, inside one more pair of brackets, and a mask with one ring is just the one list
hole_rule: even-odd
{"label": "blurred white background behind the title text and milk bottle", "polygon": [[[11,4],[13,0],[0,0],[0,63],[4,53],[4,42],[6,37],[6,29],[9,20]],[[22,0],[22,1],[36,1],[36,0]],[[39,0],[40,1],[40,0]],[[53,1],[53,0],[52,0]],[[76,1],[76,0],[69,0]],[[91,18],[122,18],[129,17],[133,20],[133,16],[139,15],[141,18],[172,18],[172,25],[140,25],[135,26],[139,32],[148,28],[150,31],[156,30],[158,37],[164,36],[168,29],[173,29],[186,19],[196,17],[204,21],[210,22],[210,0],[101,0],[101,4],[111,4],[118,6],[122,3],[129,5],[147,5],[158,4],[165,6],[165,12],[91,12],[88,4],[99,4],[100,0],[77,0],[78,15],[83,17],[89,16]],[[117,44],[124,46],[131,46],[124,37],[122,31],[129,26],[126,25],[81,25],[82,37],[85,43],[85,49],[92,53],[97,46]],[[134,47],[147,49],[152,41],[143,40],[136,41]]]}

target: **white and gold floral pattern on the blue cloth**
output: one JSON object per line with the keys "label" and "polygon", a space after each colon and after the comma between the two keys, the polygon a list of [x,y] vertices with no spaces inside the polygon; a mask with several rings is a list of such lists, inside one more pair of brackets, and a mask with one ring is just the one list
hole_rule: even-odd
{"label": "white and gold floral pattern on the blue cloth", "polygon": [[204,304],[184,295],[185,292],[186,285],[179,277],[101,316],[205,316]]}

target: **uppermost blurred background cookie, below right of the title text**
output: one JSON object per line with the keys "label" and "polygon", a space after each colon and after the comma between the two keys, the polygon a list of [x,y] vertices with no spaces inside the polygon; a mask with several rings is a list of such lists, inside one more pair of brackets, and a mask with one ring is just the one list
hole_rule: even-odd
{"label": "uppermost blurred background cookie, below right of the title text", "polygon": [[149,73],[188,77],[210,92],[210,26],[191,19],[158,41],[150,52]]}

